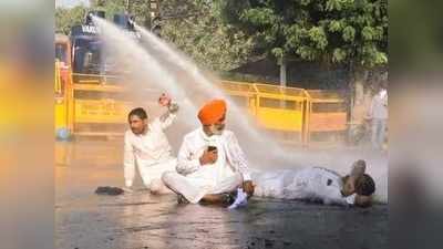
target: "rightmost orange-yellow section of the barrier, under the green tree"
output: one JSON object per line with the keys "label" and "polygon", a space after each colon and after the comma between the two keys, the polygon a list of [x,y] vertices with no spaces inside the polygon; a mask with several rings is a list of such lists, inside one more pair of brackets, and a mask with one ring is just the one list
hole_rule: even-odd
{"label": "rightmost orange-yellow section of the barrier, under the green tree", "polygon": [[348,107],[344,92],[326,90],[306,92],[309,96],[306,141],[324,142],[333,138],[333,142],[337,142],[347,131]]}

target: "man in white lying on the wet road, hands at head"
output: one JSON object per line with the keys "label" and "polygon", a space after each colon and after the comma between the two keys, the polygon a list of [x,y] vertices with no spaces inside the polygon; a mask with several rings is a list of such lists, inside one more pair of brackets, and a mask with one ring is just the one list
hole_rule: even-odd
{"label": "man in white lying on the wet road, hands at head", "polygon": [[375,183],[365,172],[365,162],[357,160],[344,177],[322,168],[309,167],[282,174],[253,175],[257,196],[321,201],[326,205],[368,207],[372,203]]}

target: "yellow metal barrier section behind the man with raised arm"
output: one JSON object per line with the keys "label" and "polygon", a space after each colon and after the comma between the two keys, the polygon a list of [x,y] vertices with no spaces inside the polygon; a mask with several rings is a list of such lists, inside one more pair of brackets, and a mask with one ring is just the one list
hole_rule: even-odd
{"label": "yellow metal barrier section behind the man with raised arm", "polygon": [[[83,76],[76,74],[76,76]],[[116,76],[87,75],[89,80],[72,84],[73,133],[75,135],[121,136],[127,128],[127,114],[135,103],[151,105],[150,101],[132,98],[127,84]],[[74,79],[74,77],[73,77]],[[113,83],[110,82],[113,80]],[[104,83],[106,80],[107,82]],[[142,89],[137,91],[146,100],[156,100],[158,91]],[[153,101],[155,103],[155,101]]]}

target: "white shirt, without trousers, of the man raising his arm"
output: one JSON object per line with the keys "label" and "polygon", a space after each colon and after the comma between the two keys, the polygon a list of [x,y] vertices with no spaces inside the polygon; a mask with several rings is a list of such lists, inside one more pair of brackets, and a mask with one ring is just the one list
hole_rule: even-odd
{"label": "white shirt, without trousers, of the man raising his arm", "polygon": [[164,129],[175,120],[175,114],[169,114],[164,121],[159,117],[148,124],[146,134],[135,135],[131,129],[124,137],[124,175],[132,181],[135,175],[135,163],[138,166],[152,166],[166,162],[172,157],[172,147]]}

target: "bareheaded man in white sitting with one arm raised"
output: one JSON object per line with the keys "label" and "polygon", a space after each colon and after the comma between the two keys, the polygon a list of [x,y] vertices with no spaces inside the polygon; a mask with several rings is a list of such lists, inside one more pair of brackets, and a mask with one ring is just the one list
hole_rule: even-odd
{"label": "bareheaded man in white sitting with one arm raised", "polygon": [[126,188],[133,186],[137,165],[143,184],[152,194],[171,193],[161,180],[162,174],[175,169],[177,160],[171,155],[171,145],[164,133],[173,121],[178,105],[163,94],[158,103],[167,111],[162,116],[150,118],[142,107],[130,112],[127,120],[131,129],[124,137],[124,178]]}

